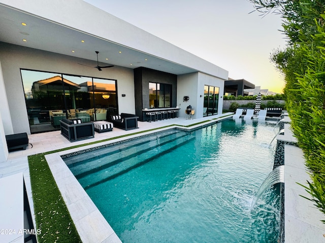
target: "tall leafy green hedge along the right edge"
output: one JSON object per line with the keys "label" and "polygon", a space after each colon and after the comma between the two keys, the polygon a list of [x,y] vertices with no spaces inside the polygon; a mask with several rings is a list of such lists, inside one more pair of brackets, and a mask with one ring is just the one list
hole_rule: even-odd
{"label": "tall leafy green hedge along the right edge", "polygon": [[[249,0],[262,13],[278,12],[288,42],[271,60],[284,74],[291,127],[304,151],[311,181],[304,186],[325,214],[325,4],[323,0]],[[307,198],[308,199],[308,198]],[[325,223],[325,220],[321,220]]]}

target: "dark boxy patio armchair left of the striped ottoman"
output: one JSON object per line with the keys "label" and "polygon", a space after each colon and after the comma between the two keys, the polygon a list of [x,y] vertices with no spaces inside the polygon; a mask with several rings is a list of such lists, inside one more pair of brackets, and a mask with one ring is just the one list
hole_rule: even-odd
{"label": "dark boxy patio armchair left of the striped ottoman", "polygon": [[63,118],[60,120],[61,135],[70,142],[94,137],[93,122],[82,123],[81,119],[69,120]]}

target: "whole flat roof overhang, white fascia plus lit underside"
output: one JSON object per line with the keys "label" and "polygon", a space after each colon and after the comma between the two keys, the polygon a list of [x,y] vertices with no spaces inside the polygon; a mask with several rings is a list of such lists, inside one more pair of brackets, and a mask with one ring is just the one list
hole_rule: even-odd
{"label": "whole flat roof overhang, white fascia plus lit underside", "polygon": [[86,59],[83,64],[90,66],[96,65],[99,51],[100,65],[146,67],[176,75],[200,71],[228,79],[228,71],[86,2],[2,2],[0,42]]}

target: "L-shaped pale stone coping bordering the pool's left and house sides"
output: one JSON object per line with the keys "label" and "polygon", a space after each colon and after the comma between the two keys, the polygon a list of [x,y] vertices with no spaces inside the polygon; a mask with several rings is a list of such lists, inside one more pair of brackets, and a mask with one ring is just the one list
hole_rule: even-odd
{"label": "L-shaped pale stone coping bordering the pool's left and house sides", "polygon": [[226,115],[219,118],[207,120],[205,123],[200,123],[190,127],[173,125],[165,128],[157,128],[155,130],[129,135],[122,138],[112,139],[109,141],[99,142],[91,145],[81,146],[69,150],[50,153],[45,155],[46,161],[53,174],[54,180],[62,194],[62,198],[66,203],[70,212],[71,218],[75,223],[77,231],[83,242],[122,242],[107,220],[101,214],[99,209],[94,205],[86,191],[80,185],[78,180],[72,174],[61,156],[78,153],[82,150],[93,149],[95,147],[105,146],[107,144],[128,141],[142,136],[148,136],[155,133],[160,133],[171,129],[180,129],[184,131],[193,131],[207,126],[219,123],[222,120],[230,119],[232,115]]}

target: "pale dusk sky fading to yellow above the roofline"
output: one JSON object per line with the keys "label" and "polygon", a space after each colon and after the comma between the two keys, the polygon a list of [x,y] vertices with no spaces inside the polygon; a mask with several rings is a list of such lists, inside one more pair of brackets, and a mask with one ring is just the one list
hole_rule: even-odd
{"label": "pale dusk sky fading to yellow above the roofline", "polygon": [[270,62],[285,46],[279,15],[250,13],[246,0],[84,1],[228,70],[230,78],[282,92],[283,78]]}

